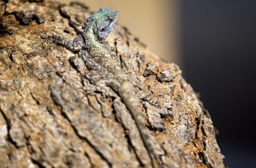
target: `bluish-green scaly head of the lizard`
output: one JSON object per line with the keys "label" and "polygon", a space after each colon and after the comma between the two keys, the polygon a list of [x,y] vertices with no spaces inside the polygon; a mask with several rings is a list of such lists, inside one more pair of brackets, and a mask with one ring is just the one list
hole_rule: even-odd
{"label": "bluish-green scaly head of the lizard", "polygon": [[[84,29],[89,23],[95,23],[94,34],[99,41],[105,40],[113,30],[118,18],[118,12],[107,7],[101,7],[98,12],[88,17],[84,23]],[[95,21],[95,22],[94,22]]]}

